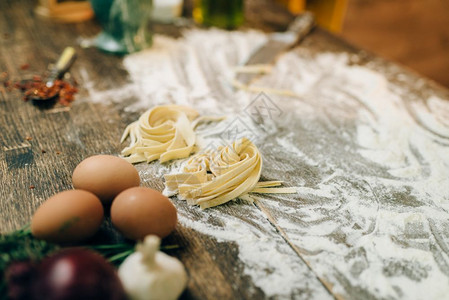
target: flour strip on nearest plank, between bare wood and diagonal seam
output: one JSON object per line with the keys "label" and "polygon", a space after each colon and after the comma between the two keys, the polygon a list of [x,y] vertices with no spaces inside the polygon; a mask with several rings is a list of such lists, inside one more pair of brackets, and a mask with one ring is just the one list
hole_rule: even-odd
{"label": "flour strip on nearest plank, between bare wood and diagonal seam", "polygon": [[[239,250],[238,257],[244,264],[243,275],[251,277],[267,297],[332,299],[313,277],[310,278],[307,267],[267,222],[265,216],[251,208],[245,206],[241,210],[250,222],[233,217],[225,209],[200,211],[199,214],[203,217],[199,220],[183,211],[179,213],[179,221],[184,226],[215,237],[218,242],[235,243]],[[208,221],[210,218],[221,226],[211,225]],[[304,291],[312,294],[304,295]]]}

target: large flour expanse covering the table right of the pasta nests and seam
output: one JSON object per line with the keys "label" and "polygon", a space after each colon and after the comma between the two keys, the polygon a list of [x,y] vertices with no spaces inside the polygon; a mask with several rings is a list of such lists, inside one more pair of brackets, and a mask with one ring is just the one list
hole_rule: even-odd
{"label": "large flour expanse covering the table right of the pasta nests and seam", "polygon": [[[296,66],[295,76],[287,66]],[[304,136],[296,146],[280,136],[278,145],[310,170],[320,162],[321,172],[317,183],[299,188],[301,201],[264,201],[291,216],[279,225],[336,293],[447,295],[449,102],[408,98],[380,73],[350,66],[345,54],[291,53],[277,70],[259,84],[276,76],[285,79],[276,88],[300,94],[294,132]],[[291,101],[278,105],[292,110]],[[363,292],[352,294],[353,286]]]}

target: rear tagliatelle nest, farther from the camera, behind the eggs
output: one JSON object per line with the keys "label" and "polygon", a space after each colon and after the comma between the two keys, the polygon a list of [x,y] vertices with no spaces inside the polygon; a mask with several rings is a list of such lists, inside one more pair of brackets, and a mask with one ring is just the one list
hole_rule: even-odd
{"label": "rear tagliatelle nest, farther from the camera, behind the eggs", "polygon": [[180,105],[156,106],[129,124],[121,142],[131,142],[121,152],[130,163],[167,162],[188,157],[195,145],[195,120],[198,112]]}

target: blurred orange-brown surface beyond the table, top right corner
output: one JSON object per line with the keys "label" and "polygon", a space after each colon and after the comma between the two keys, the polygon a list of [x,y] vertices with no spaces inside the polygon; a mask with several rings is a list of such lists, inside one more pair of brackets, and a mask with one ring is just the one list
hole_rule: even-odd
{"label": "blurred orange-brown surface beyond the table, top right corner", "polygon": [[449,87],[448,0],[348,0],[340,34]]}

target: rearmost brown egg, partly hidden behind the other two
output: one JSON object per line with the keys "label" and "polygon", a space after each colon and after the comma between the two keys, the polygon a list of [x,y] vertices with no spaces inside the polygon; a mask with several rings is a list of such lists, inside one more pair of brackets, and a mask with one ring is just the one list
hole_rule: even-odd
{"label": "rearmost brown egg, partly hidden behind the other two", "polygon": [[103,204],[111,204],[120,192],[139,186],[140,178],[136,168],[123,158],[94,155],[75,168],[72,183],[76,189],[97,195]]}

